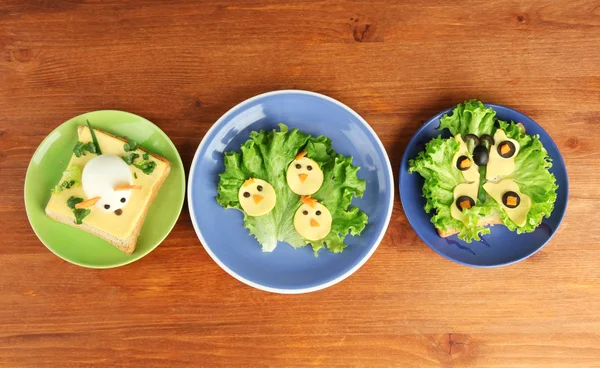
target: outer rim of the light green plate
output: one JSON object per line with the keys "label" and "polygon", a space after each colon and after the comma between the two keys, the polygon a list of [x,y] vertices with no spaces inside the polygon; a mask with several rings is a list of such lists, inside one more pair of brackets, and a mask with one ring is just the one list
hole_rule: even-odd
{"label": "outer rim of the light green plate", "polygon": [[[133,115],[137,118],[143,119],[146,122],[150,123],[151,125],[154,126],[155,129],[157,129],[166,139],[167,142],[170,144],[170,146],[175,150],[175,153],[177,154],[177,163],[179,165],[179,167],[182,170],[183,173],[183,182],[181,184],[182,186],[182,191],[183,191],[183,196],[181,199],[181,204],[178,206],[179,210],[177,213],[177,218],[175,219],[175,221],[173,222],[173,224],[171,225],[171,227],[168,229],[168,231],[166,232],[165,236],[162,237],[162,239],[160,239],[156,245],[154,245],[153,247],[151,247],[146,253],[144,254],[140,254],[138,257],[134,257],[131,259],[128,259],[125,262],[122,263],[116,263],[116,264],[111,264],[111,265],[103,265],[103,266],[97,266],[97,265],[90,265],[90,264],[85,264],[85,263],[79,263],[79,262],[75,262],[71,259],[68,259],[66,257],[63,257],[61,254],[58,254],[57,252],[54,251],[54,249],[52,249],[48,244],[46,244],[46,242],[44,240],[42,240],[42,238],[40,237],[38,230],[35,228],[34,224],[31,221],[31,217],[29,215],[29,208],[27,206],[27,183],[28,183],[28,177],[30,175],[30,172],[32,170],[31,168],[31,164],[33,162],[33,158],[36,156],[36,154],[38,153],[40,147],[42,147],[42,145],[44,144],[44,142],[46,142],[46,140],[48,139],[48,137],[50,137],[50,135],[52,135],[52,133],[54,133],[55,131],[57,131],[58,129],[60,129],[63,125],[67,124],[68,122],[70,122],[73,119],[76,119],[80,116],[84,116],[87,114],[93,114],[93,113],[103,113],[103,112],[109,112],[109,113],[118,113],[118,114],[126,114],[126,115]],[[42,139],[42,141],[38,144],[37,148],[35,149],[33,155],[31,155],[31,159],[29,160],[29,164],[27,165],[27,171],[25,173],[25,180],[23,183],[23,203],[25,205],[25,213],[27,214],[27,221],[29,222],[29,226],[31,227],[31,229],[33,230],[35,236],[38,238],[38,240],[50,251],[52,252],[54,255],[56,255],[58,258],[79,266],[79,267],[84,267],[84,268],[89,268],[89,269],[110,269],[110,268],[117,268],[117,267],[122,267],[122,266],[126,266],[128,264],[131,264],[133,262],[136,262],[142,258],[144,258],[145,256],[147,256],[148,254],[150,254],[152,251],[154,251],[160,244],[162,244],[162,242],[171,234],[171,231],[173,231],[173,228],[175,227],[175,225],[177,224],[177,222],[179,221],[179,218],[181,217],[181,211],[183,210],[183,204],[185,202],[186,199],[186,191],[187,187],[186,187],[186,175],[185,175],[185,166],[183,165],[183,161],[181,160],[181,155],[179,154],[179,150],[177,149],[177,146],[175,146],[175,144],[173,143],[173,141],[171,140],[171,138],[167,135],[167,133],[165,133],[158,125],[154,124],[152,121],[146,119],[143,116],[128,112],[128,111],[123,111],[123,110],[115,110],[115,109],[103,109],[103,110],[93,110],[93,111],[87,111],[84,113],[81,113],[79,115],[75,115],[67,120],[65,120],[64,122],[62,122],[61,124],[59,124],[58,126],[56,126],[54,129],[52,129],[52,131],[50,133],[48,133],[44,139]]]}

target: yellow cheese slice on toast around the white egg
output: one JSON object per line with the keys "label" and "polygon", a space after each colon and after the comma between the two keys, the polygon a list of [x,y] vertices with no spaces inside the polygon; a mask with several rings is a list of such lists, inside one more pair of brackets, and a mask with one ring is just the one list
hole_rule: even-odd
{"label": "yellow cheese slice on toast around the white egg", "polygon": [[[124,156],[126,154],[135,152],[140,155],[138,160],[141,160],[144,151],[138,149],[133,152],[125,152],[123,149],[124,143],[122,140],[96,129],[94,129],[94,132],[96,133],[96,138],[98,139],[98,144],[100,145],[100,149],[102,150],[103,154]],[[83,143],[92,141],[90,130],[87,127],[81,129],[79,133],[79,141]],[[85,156],[82,155],[81,157],[75,157],[75,155],[72,155],[67,167],[77,165],[83,170],[86,163],[95,157],[97,157],[97,155],[87,151]],[[146,206],[149,205],[150,195],[157,184],[157,179],[159,179],[167,169],[166,163],[160,160],[155,160],[152,158],[152,156],[149,157],[149,160],[156,163],[156,168],[150,175],[144,174],[143,171],[139,170],[133,165],[129,166],[132,174],[135,173],[137,176],[137,179],[133,179],[133,184],[141,186],[141,189],[131,191],[131,196],[128,199],[127,204],[122,208],[122,213],[120,216],[116,215],[113,211],[107,212],[96,207],[92,207],[91,213],[83,219],[83,222],[115,237],[128,238],[133,232],[134,226],[138,223],[140,216],[142,216],[144,213]],[[62,183],[64,180],[65,177],[62,177],[59,183]],[[72,218],[74,221],[75,215],[73,214],[73,210],[67,206],[67,199],[70,196],[80,197],[84,200],[88,199],[86,198],[82,186],[65,189],[56,194],[52,194],[50,201],[48,202],[48,209],[68,218]]]}

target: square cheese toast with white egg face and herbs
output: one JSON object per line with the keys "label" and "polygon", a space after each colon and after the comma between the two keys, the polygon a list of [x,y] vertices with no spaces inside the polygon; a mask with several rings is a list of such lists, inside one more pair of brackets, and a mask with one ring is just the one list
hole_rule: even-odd
{"label": "square cheese toast with white egg face and herbs", "polygon": [[78,142],[46,214],[131,254],[169,171],[165,158],[88,122],[78,127]]}

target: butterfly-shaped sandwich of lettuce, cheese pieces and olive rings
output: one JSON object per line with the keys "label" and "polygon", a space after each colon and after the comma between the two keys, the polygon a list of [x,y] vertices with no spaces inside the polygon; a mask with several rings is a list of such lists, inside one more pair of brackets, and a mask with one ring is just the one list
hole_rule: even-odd
{"label": "butterfly-shaped sandwich of lettuce, cheese pieces and olive rings", "polygon": [[452,137],[432,139],[409,161],[425,179],[425,211],[441,237],[480,240],[494,224],[532,232],[554,209],[558,186],[539,137],[495,115],[477,100],[458,105],[440,120]]}

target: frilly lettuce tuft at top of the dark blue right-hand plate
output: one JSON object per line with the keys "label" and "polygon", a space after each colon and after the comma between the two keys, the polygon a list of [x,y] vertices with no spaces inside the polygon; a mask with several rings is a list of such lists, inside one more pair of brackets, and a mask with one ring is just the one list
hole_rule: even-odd
{"label": "frilly lettuce tuft at top of the dark blue right-hand plate", "polygon": [[465,101],[464,104],[459,104],[452,110],[452,115],[445,114],[440,119],[439,129],[448,129],[453,136],[457,134],[462,137],[467,134],[475,134],[478,137],[481,137],[482,134],[492,135],[494,116],[496,116],[496,111],[491,107],[486,107],[481,101]]}

